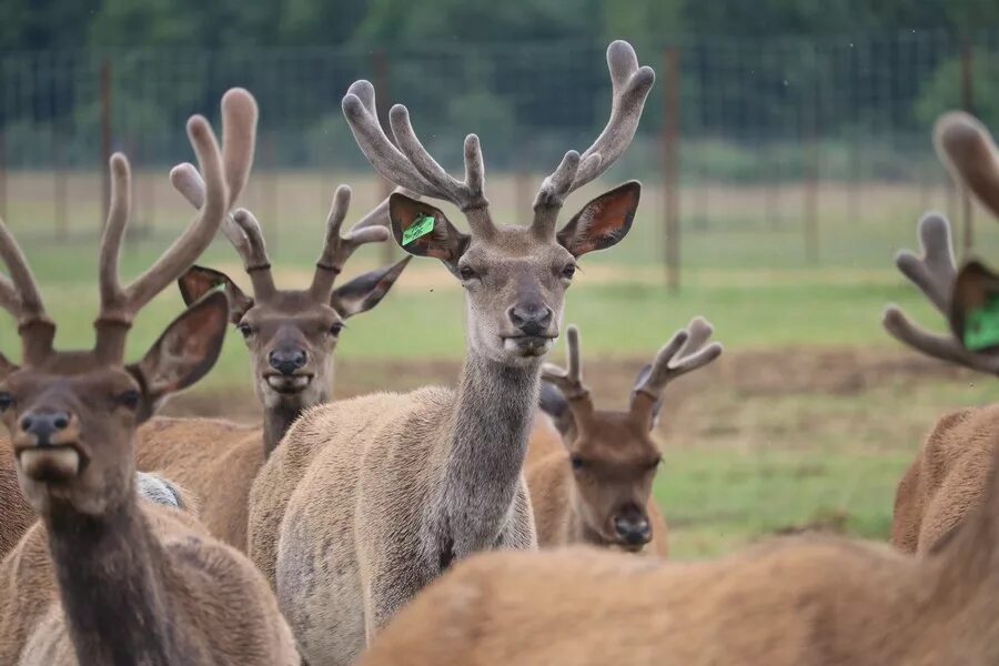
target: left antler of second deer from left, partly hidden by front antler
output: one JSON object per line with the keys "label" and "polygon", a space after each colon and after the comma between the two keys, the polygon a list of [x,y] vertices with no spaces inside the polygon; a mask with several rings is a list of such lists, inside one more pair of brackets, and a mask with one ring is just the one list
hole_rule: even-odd
{"label": "left antler of second deer from left, partly hidden by front antler", "polygon": [[[195,209],[204,204],[204,180],[193,164],[184,162],[171,169],[170,182]],[[272,294],[275,287],[271,260],[256,218],[245,209],[228,213],[222,221],[222,233],[243,260],[243,270],[250,275],[254,295],[264,299]]]}

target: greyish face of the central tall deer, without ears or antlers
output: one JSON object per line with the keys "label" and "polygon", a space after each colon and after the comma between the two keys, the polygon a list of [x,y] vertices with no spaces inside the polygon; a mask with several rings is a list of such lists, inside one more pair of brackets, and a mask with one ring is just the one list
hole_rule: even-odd
{"label": "greyish face of the central tall deer, without ears or antlers", "polygon": [[470,345],[494,361],[517,364],[543,356],[558,337],[575,258],[526,229],[500,229],[473,241],[456,264],[465,290]]}

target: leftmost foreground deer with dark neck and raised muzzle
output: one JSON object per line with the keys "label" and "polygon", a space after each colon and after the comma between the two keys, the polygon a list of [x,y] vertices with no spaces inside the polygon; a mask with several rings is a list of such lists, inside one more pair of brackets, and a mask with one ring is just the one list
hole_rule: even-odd
{"label": "leftmost foreground deer with dark neck and raised muzzle", "polygon": [[0,222],[0,305],[18,321],[22,359],[0,359],[0,420],[24,497],[39,515],[0,563],[2,664],[296,665],[294,637],[266,581],[191,514],[140,503],[133,441],[173,393],[208,373],[229,305],[214,292],[180,314],[135,363],[124,363],[135,316],[215,235],[245,182],[256,103],[222,99],[222,149],[208,121],[188,123],[205,174],[204,205],[183,234],[128,285],[119,255],[131,174],[110,160],[111,203],[101,240],[95,343],[57,351],[28,261]]}

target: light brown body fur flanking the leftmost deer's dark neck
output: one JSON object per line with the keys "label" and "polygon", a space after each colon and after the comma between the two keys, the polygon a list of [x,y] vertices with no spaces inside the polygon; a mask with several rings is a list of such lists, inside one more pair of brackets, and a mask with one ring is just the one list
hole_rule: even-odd
{"label": "light brown body fur flanking the leftmost deer's dark neck", "polygon": [[[171,582],[154,605],[192,647],[184,663],[299,663],[266,582],[244,557],[181,512],[145,504],[143,514],[162,544],[161,572]],[[77,659],[58,589],[48,534],[37,523],[0,563],[0,664],[94,663]]]}

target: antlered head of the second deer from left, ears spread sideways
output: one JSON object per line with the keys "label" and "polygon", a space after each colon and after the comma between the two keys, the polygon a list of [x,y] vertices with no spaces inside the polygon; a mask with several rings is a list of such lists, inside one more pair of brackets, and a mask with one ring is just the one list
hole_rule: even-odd
{"label": "antlered head of the second deer from left, ears spread sideways", "polygon": [[[173,171],[174,186],[195,208],[204,199],[204,181],[191,164]],[[336,276],[354,251],[365,243],[389,240],[389,201],[364,216],[346,234],[340,230],[351,202],[341,185],[326,220],[323,250],[306,290],[280,290],[271,273],[263,232],[244,209],[226,216],[222,231],[243,260],[253,294],[248,295],[224,273],[194,266],[179,280],[185,303],[193,303],[223,285],[230,321],[250,350],[254,389],[268,408],[302,410],[324,402],[332,383],[332,359],[344,320],[381,302],[406,268],[410,258],[364,273],[334,289]]]}

